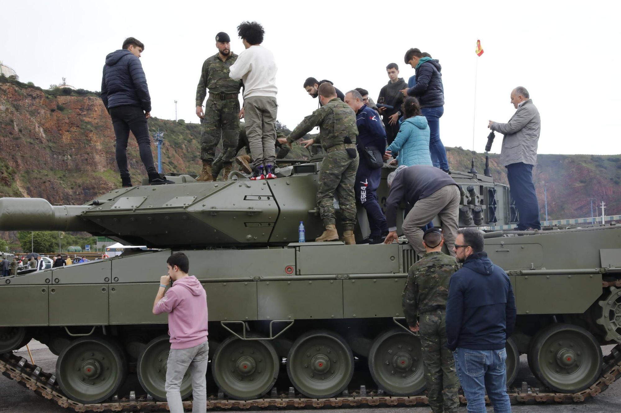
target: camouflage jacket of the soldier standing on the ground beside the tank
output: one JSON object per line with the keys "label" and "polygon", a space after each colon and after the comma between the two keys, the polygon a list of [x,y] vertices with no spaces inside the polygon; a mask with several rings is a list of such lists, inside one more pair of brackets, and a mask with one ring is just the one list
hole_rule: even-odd
{"label": "camouflage jacket of the soldier standing on the ground beside the tank", "polygon": [[401,295],[409,326],[416,325],[417,314],[446,308],[448,283],[458,269],[457,260],[443,252],[428,252],[410,267]]}

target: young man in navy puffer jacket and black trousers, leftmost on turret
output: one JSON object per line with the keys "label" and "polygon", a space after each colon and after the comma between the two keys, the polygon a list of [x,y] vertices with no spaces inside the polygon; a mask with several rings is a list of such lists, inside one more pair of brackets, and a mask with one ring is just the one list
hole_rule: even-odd
{"label": "young man in navy puffer jacket and black trousers, leftmost on turret", "polygon": [[128,37],[120,50],[106,56],[101,79],[101,100],[110,117],[116,136],[116,161],[123,187],[131,187],[132,180],[127,169],[127,140],[129,131],[138,141],[140,159],[147,169],[151,185],[172,184],[161,179],[151,152],[151,136],[147,119],[151,116],[151,96],[147,78],[140,64],[140,54],[145,45],[134,37]]}

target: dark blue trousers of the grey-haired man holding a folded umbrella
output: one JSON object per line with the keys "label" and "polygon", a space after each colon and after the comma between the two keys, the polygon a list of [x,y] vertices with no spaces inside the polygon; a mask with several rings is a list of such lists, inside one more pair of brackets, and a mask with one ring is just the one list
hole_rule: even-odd
{"label": "dark blue trousers of the grey-haired man holding a folded umbrella", "polygon": [[511,198],[520,214],[517,229],[541,229],[539,221],[539,203],[533,185],[533,166],[524,162],[507,165],[507,180],[511,189]]}

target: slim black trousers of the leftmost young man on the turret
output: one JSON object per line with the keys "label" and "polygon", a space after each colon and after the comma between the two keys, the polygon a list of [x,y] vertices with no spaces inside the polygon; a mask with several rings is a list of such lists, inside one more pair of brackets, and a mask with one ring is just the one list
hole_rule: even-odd
{"label": "slim black trousers of the leftmost young man on the turret", "polygon": [[132,131],[138,142],[140,159],[147,169],[147,174],[156,174],[157,169],[153,164],[153,154],[151,153],[151,135],[149,135],[147,118],[142,108],[129,105],[117,106],[110,108],[109,112],[116,136],[116,159],[121,177],[129,177],[129,170],[127,169],[129,131]]}

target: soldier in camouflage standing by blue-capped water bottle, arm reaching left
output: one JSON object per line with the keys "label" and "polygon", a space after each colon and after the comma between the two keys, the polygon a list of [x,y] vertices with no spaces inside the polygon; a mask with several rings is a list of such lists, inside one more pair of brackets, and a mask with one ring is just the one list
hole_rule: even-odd
{"label": "soldier in camouflage standing by blue-capped water bottle, arm reaching left", "polygon": [[338,206],[343,214],[343,241],[351,245],[356,243],[353,235],[356,224],[354,184],[360,160],[356,150],[356,136],[358,136],[356,114],[345,102],[338,99],[334,86],[328,82],[319,86],[319,99],[322,107],[304,118],[286,139],[281,138],[279,142],[291,145],[293,141],[309,133],[312,128],[319,126],[317,138],[302,141],[306,148],[313,143],[321,143],[325,153],[317,189],[317,205],[324,220],[325,231],[315,241],[338,239],[333,204],[336,193]]}

